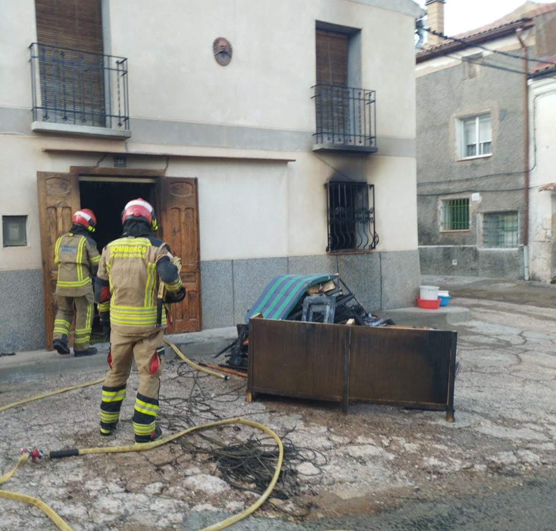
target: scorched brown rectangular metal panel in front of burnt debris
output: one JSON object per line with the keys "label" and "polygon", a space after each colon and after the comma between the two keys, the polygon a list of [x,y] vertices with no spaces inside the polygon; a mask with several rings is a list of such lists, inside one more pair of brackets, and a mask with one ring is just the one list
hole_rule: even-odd
{"label": "scorched brown rectangular metal panel in front of burnt debris", "polygon": [[254,393],[399,405],[454,420],[458,334],[252,318],[247,400]]}

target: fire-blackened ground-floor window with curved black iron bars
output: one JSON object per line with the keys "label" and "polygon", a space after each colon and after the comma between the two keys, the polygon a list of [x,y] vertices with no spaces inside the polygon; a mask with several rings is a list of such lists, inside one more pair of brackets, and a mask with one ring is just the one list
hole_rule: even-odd
{"label": "fire-blackened ground-floor window with curved black iron bars", "polygon": [[375,192],[368,183],[325,184],[328,245],[331,253],[369,251],[379,242],[375,232]]}

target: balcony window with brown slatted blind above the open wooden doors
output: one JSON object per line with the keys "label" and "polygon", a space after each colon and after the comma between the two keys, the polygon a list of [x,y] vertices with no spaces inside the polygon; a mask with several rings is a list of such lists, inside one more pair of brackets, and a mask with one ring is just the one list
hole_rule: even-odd
{"label": "balcony window with brown slatted blind above the open wooden doors", "polygon": [[37,42],[29,46],[33,131],[115,136],[83,129],[129,129],[127,59],[104,53],[103,3],[34,1]]}

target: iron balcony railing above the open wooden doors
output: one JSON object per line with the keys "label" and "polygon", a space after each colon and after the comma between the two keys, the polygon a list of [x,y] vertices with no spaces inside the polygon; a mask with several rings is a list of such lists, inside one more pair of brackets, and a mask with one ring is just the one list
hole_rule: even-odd
{"label": "iron balcony railing above the open wooden doors", "polygon": [[130,128],[127,59],[32,43],[33,121]]}

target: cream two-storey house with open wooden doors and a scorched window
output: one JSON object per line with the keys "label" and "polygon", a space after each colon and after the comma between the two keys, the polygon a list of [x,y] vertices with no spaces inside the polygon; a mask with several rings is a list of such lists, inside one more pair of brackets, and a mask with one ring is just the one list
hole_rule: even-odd
{"label": "cream two-storey house with open wooden doors and a scorched window", "polygon": [[[0,0],[0,350],[51,343],[53,242],[132,198],[182,258],[173,332],[243,322],[276,275],[414,303],[411,0]],[[209,8],[210,7],[210,8]]]}

